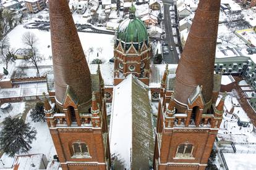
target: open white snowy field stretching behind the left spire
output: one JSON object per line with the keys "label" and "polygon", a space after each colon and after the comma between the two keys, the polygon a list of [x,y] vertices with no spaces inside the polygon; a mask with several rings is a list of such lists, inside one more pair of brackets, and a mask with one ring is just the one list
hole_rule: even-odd
{"label": "open white snowy field stretching behind the left spire", "polygon": [[[31,31],[36,35],[36,38],[38,38],[38,44],[36,44],[36,47],[38,47],[39,53],[43,55],[45,59],[49,59],[52,53],[51,35],[48,31],[41,31],[38,29],[28,30],[23,28],[23,25],[18,25],[7,35],[10,39],[11,48],[15,51],[19,48],[26,47],[22,42],[22,35],[27,31]],[[113,35],[79,32],[79,38],[89,63],[92,62],[93,59],[101,59],[103,62],[108,62],[108,60],[113,57]],[[97,57],[97,53],[99,57]]]}

